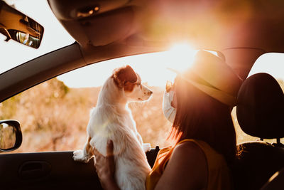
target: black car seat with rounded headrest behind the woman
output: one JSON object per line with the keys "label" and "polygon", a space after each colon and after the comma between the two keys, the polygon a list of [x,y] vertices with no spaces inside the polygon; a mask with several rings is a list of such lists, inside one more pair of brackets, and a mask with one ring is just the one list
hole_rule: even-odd
{"label": "black car seat with rounded headrest behind the woman", "polygon": [[[284,167],[284,95],[277,80],[257,73],[241,85],[236,115],[241,130],[261,140],[239,144],[241,152],[233,168],[235,189],[261,189]],[[277,143],[263,139],[277,139]]]}

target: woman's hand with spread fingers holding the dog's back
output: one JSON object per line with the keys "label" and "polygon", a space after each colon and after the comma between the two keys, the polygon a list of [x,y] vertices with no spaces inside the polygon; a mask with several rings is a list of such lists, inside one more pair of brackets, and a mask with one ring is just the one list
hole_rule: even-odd
{"label": "woman's hand with spread fingers holding the dog's back", "polygon": [[107,156],[104,157],[97,149],[93,149],[94,156],[96,157],[96,164],[94,167],[97,169],[99,181],[101,181],[102,188],[104,189],[119,189],[114,179],[115,163],[114,163],[114,142],[109,140],[107,142]]}

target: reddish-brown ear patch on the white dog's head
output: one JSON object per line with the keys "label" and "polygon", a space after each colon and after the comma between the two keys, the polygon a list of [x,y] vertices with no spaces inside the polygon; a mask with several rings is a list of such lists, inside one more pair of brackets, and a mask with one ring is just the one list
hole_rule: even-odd
{"label": "reddish-brown ear patch on the white dog's head", "polygon": [[138,80],[135,71],[129,65],[114,70],[112,78],[119,88],[124,88],[126,91],[133,90]]}

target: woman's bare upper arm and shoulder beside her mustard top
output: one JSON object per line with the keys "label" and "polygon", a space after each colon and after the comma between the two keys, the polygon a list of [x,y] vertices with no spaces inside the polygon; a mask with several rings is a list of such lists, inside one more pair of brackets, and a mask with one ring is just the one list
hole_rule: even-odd
{"label": "woman's bare upper arm and shoulder beside her mustard top", "polygon": [[207,159],[194,142],[183,142],[175,147],[155,190],[205,189]]}

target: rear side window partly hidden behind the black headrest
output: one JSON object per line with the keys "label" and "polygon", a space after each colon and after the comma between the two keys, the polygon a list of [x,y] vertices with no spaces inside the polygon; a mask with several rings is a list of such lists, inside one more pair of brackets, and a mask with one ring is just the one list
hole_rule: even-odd
{"label": "rear side window partly hidden behind the black headrest", "polygon": [[[268,73],[278,81],[280,87],[282,88],[282,90],[284,90],[283,62],[284,53],[266,53],[256,60],[256,63],[254,63],[253,68],[251,68],[249,76],[256,73]],[[239,127],[239,123],[236,119],[236,107],[234,107],[232,111],[232,117],[236,128],[237,143],[254,141],[256,139],[259,139],[257,137],[251,137],[241,130],[241,127]],[[280,141],[283,143],[284,139],[280,139]],[[275,142],[275,139],[266,139],[266,142]]]}

